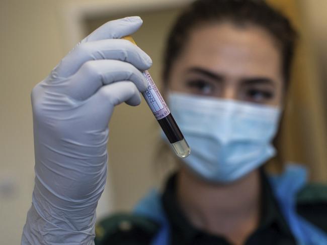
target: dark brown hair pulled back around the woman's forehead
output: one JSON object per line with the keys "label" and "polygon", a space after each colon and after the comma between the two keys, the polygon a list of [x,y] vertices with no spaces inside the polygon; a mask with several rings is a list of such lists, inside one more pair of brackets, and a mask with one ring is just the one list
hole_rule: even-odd
{"label": "dark brown hair pulled back around the woman's forehead", "polygon": [[288,82],[297,34],[286,17],[263,0],[197,0],[177,18],[168,37],[162,74],[165,83],[191,31],[203,24],[221,21],[237,26],[256,25],[268,31],[281,50],[282,75]]}

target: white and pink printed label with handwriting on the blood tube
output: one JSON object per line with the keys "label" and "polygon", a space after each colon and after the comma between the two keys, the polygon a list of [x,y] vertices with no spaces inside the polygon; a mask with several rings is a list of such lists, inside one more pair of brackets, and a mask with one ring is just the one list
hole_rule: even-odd
{"label": "white and pink printed label with handwriting on the blood tube", "polygon": [[171,112],[165,100],[163,100],[158,88],[155,86],[150,76],[150,73],[148,71],[143,71],[143,75],[148,81],[148,87],[142,94],[145,98],[146,103],[152,110],[155,118],[159,120],[168,116]]}

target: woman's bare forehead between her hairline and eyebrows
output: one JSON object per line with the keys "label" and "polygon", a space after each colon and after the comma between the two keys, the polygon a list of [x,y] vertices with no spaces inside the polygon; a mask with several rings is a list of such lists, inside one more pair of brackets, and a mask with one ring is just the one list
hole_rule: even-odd
{"label": "woman's bare forehead between her hairline and eyebrows", "polygon": [[190,34],[183,66],[201,66],[232,76],[281,76],[281,54],[273,37],[256,26],[204,25]]}

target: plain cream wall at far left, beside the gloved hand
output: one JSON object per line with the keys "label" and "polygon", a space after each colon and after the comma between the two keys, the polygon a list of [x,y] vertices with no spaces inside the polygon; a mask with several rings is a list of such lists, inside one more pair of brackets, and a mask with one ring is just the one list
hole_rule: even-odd
{"label": "plain cream wall at far left, beside the gloved hand", "polygon": [[62,56],[55,9],[55,1],[8,0],[0,4],[2,244],[20,243],[31,203],[34,149],[30,91]]}

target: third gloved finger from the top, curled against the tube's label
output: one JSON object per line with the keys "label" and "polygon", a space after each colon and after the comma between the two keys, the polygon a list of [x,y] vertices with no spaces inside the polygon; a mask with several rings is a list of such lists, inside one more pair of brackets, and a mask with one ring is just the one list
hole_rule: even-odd
{"label": "third gloved finger from the top, curled against the tube's label", "polygon": [[63,93],[76,100],[91,97],[102,86],[118,82],[132,81],[138,91],[145,91],[147,81],[137,68],[118,60],[94,60],[83,64],[67,81]]}

